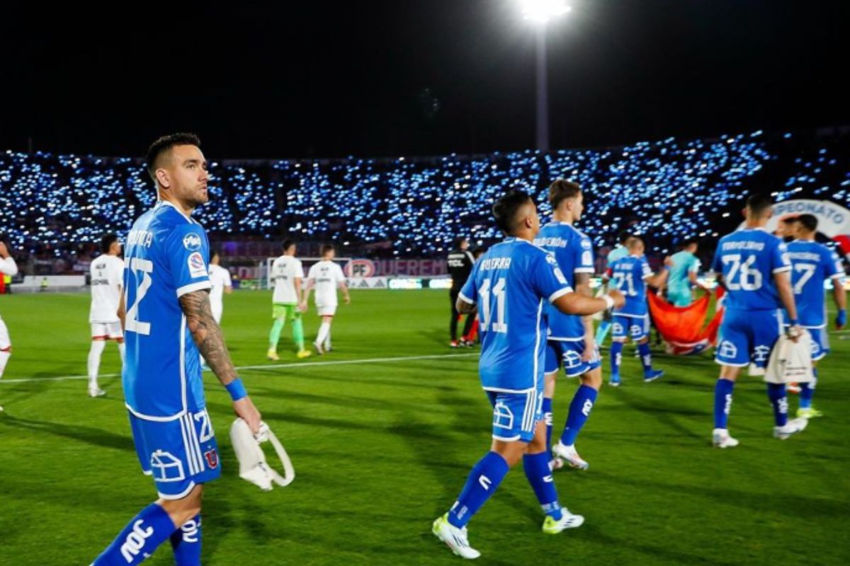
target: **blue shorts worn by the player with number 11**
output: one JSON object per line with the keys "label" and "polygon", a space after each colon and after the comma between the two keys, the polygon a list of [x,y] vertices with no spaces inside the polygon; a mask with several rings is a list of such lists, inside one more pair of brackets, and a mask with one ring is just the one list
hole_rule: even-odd
{"label": "blue shorts worn by the player with number 11", "polygon": [[530,442],[537,421],[543,418],[543,379],[525,393],[486,391],[493,406],[493,439]]}

